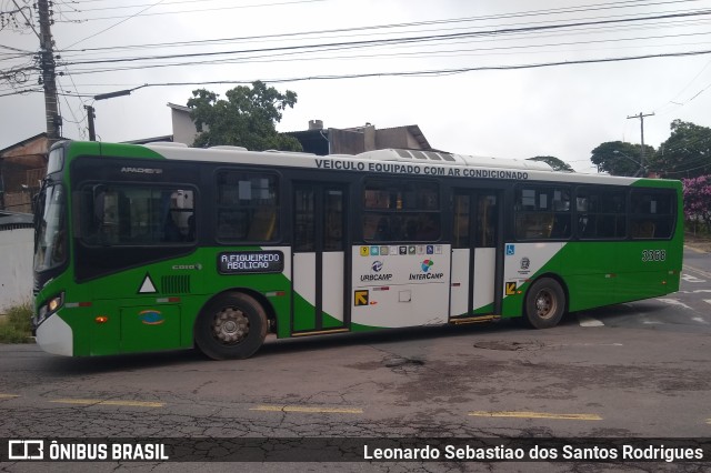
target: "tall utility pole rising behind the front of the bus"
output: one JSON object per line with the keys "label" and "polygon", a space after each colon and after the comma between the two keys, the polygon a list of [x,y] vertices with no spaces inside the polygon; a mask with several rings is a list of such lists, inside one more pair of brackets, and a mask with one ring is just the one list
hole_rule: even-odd
{"label": "tall utility pole rising behind the front of the bus", "polygon": [[57,107],[57,83],[54,82],[54,46],[50,30],[50,10],[48,0],[37,1],[37,13],[40,17],[40,69],[44,88],[44,115],[47,120],[47,138],[50,145],[59,140],[62,118]]}

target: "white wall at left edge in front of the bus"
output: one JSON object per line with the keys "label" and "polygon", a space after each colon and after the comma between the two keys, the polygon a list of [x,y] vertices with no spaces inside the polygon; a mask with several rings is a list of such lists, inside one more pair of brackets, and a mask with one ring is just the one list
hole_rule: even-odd
{"label": "white wall at left edge in front of the bus", "polygon": [[0,230],[0,313],[32,300],[32,229]]}

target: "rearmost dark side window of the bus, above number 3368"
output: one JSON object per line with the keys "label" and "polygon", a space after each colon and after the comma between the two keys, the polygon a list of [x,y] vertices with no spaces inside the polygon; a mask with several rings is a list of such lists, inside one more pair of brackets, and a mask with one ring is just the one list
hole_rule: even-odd
{"label": "rearmost dark side window of the bus, above number 3368", "polygon": [[632,189],[630,233],[633,239],[668,239],[677,220],[677,195],[671,190]]}

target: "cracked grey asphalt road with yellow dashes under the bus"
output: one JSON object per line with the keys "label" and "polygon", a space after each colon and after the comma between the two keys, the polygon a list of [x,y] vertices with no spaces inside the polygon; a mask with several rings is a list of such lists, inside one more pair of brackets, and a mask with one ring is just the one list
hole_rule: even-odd
{"label": "cracked grey asphalt road with yellow dashes under the bus", "polygon": [[[254,358],[226,362],[192,351],[67,359],[36,345],[1,345],[0,439],[709,439],[710,334],[711,258],[689,250],[680,292],[570,314],[544,331],[502,322],[270,340]],[[206,463],[200,470],[236,465]],[[585,471],[701,471],[709,465],[613,463]],[[0,471],[52,466],[4,462]],[[71,466],[160,472],[192,471],[197,464]],[[240,464],[243,471],[307,467],[444,471],[484,465]],[[485,467],[571,469],[498,462]]]}

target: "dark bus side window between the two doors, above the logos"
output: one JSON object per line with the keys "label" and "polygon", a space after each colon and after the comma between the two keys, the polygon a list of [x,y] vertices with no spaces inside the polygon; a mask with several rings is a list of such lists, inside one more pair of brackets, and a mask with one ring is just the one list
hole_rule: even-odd
{"label": "dark bus side window between the two doors, above the logos", "polygon": [[362,229],[363,239],[370,242],[439,240],[439,185],[427,181],[367,180]]}

